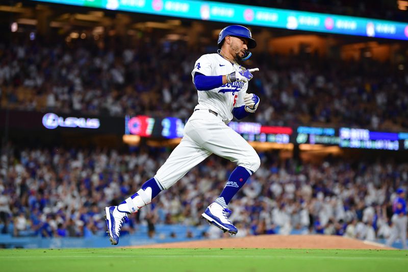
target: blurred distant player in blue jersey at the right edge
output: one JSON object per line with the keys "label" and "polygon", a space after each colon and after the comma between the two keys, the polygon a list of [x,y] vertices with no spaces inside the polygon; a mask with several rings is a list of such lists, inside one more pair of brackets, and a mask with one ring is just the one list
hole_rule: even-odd
{"label": "blurred distant player in blue jersey at the right edge", "polygon": [[399,237],[402,241],[402,247],[406,250],[406,202],[405,202],[405,191],[402,188],[397,190],[398,197],[395,197],[392,209],[394,215],[391,218],[392,221],[392,232],[390,239],[387,241],[387,245],[391,246],[395,240]]}

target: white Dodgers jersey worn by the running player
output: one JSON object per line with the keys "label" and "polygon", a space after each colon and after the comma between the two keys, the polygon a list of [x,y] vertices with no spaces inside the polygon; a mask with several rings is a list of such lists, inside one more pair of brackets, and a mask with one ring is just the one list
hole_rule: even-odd
{"label": "white Dodgers jersey worn by the running player", "polygon": [[[202,55],[196,62],[191,75],[195,72],[202,73],[205,76],[221,76],[241,71],[241,66],[232,64],[219,54]],[[218,113],[225,123],[232,120],[233,108],[241,107],[244,103],[244,95],[248,89],[248,83],[233,82],[224,84],[218,88],[208,91],[198,91],[198,105],[196,109],[209,109]]]}

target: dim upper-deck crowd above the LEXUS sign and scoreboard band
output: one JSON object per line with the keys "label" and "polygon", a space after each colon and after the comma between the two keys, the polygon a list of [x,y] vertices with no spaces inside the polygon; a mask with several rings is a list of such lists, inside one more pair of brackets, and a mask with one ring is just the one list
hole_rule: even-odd
{"label": "dim upper-deck crowd above the LEXUS sign and scoreboard band", "polygon": [[[188,118],[197,103],[194,61],[205,52],[185,42],[40,41],[0,45],[2,107],[81,114]],[[216,47],[207,48],[215,52]],[[365,58],[341,61],[257,53],[249,90],[261,98],[248,119],[264,125],[408,129],[408,73]]]}

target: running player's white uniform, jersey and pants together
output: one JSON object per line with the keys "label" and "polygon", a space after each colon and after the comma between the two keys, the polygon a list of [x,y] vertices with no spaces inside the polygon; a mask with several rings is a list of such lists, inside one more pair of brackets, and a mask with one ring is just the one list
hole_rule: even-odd
{"label": "running player's white uniform, jersey and pants together", "polygon": [[[221,76],[241,71],[219,54],[206,54],[196,62],[191,75]],[[244,105],[248,83],[233,82],[208,91],[198,91],[198,105],[184,128],[184,136],[155,176],[164,189],[170,188],[195,165],[216,154],[252,172],[261,161],[249,143],[227,126],[234,107]],[[212,112],[210,112],[211,110]]]}

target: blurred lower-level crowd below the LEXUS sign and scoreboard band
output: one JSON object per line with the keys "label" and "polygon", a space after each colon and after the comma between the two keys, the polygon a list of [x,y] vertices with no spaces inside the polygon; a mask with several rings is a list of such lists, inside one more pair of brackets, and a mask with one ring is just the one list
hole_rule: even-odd
{"label": "blurred lower-level crowd below the LEXUS sign and scoreboard band", "polygon": [[[22,149],[1,158],[0,231],[15,236],[89,237],[106,231],[104,207],[134,193],[167,159],[163,148],[131,153],[107,149]],[[260,153],[261,168],[230,203],[237,236],[321,233],[374,240],[390,235],[396,188],[407,188],[408,163],[391,160],[313,164]],[[234,164],[211,156],[193,168],[122,228],[140,224],[206,224]],[[210,228],[207,237],[222,232]]]}

